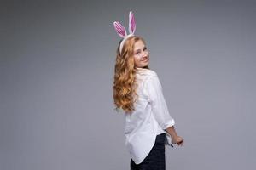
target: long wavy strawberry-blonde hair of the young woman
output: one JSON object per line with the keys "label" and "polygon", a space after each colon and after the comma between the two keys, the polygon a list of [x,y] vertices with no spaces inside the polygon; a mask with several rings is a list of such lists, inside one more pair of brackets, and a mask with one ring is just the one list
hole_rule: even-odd
{"label": "long wavy strawberry-blonde hair of the young woman", "polygon": [[[119,46],[116,50],[116,63],[113,77],[113,102],[115,110],[122,109],[126,113],[135,111],[134,103],[137,100],[137,69],[134,64],[134,43],[142,40],[142,37],[129,37],[119,53]],[[120,41],[121,42],[121,41]],[[119,45],[120,45],[119,42]],[[148,66],[144,68],[149,69]]]}

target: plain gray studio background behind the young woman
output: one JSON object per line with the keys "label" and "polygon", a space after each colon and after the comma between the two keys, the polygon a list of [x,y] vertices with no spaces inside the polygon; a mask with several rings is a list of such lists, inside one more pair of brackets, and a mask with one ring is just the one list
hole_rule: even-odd
{"label": "plain gray studio background behind the young woman", "polygon": [[113,111],[128,13],[182,147],[166,169],[255,168],[255,1],[1,1],[0,169],[129,169]]}

